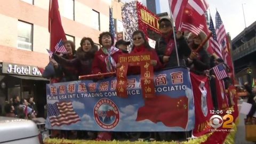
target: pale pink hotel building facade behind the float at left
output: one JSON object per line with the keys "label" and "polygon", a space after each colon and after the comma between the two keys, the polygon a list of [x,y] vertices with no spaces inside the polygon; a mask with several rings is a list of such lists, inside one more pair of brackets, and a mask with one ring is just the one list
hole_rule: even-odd
{"label": "pale pink hotel building facade behind the float at left", "polygon": [[[44,68],[49,62],[49,1],[12,0],[0,5],[0,105],[14,95],[34,95],[39,106],[46,102],[49,81],[37,67]],[[99,45],[99,34],[109,31],[109,7],[116,29],[122,31],[122,5],[117,0],[59,0],[67,39],[75,42],[76,49],[83,37],[91,37]]]}

